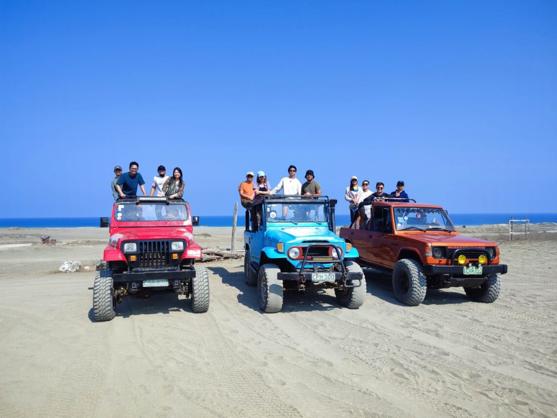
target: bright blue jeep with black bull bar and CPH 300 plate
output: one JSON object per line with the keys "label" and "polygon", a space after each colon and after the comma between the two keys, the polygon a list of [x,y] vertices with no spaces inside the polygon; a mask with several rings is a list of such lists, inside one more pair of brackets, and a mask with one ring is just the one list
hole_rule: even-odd
{"label": "bright blue jeep with black bull bar and CPH 300 plate", "polygon": [[285,290],[335,289],[338,302],[364,303],[358,250],[335,234],[335,204],[327,196],[263,196],[246,211],[244,275],[267,313],[282,309]]}

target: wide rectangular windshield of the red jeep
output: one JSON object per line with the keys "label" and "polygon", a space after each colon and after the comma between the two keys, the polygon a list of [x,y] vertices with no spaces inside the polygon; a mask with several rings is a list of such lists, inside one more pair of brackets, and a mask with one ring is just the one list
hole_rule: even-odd
{"label": "wide rectangular windshield of the red jeep", "polygon": [[187,221],[184,203],[118,203],[114,219],[119,222]]}

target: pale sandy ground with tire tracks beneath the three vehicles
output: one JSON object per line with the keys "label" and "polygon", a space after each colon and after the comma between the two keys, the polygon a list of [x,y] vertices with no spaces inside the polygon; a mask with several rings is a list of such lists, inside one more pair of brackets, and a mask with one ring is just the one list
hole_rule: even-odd
{"label": "pale sandy ground with tire tracks beneath the three vehicles", "polygon": [[[231,245],[229,228],[195,234]],[[289,293],[282,312],[263,314],[238,259],[203,264],[208,313],[166,294],[126,298],[95,323],[107,239],[98,228],[0,230],[1,417],[557,415],[555,240],[500,243],[509,273],[493,304],[447,289],[406,307],[387,276],[367,273],[358,310],[324,291]],[[54,273],[64,260],[92,268]]]}

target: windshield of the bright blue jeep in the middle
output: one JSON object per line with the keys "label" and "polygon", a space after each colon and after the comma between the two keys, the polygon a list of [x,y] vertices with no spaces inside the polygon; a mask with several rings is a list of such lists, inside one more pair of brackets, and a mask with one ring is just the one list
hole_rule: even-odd
{"label": "windshield of the bright blue jeep in the middle", "polygon": [[325,202],[298,198],[290,202],[267,202],[265,204],[267,223],[294,223],[295,225],[328,225],[328,210]]}

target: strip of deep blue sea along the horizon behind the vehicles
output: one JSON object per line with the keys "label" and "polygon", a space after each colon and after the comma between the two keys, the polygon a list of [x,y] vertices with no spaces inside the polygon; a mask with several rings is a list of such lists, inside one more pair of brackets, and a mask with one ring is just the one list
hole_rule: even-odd
{"label": "strip of deep blue sea along the horizon behind the vehicles", "polygon": [[[525,219],[524,213],[449,213],[456,226],[475,226],[493,223],[509,223],[514,219]],[[526,219],[530,223],[557,223],[557,213],[527,213]],[[350,215],[338,213],[335,215],[336,226],[350,224]],[[244,217],[238,216],[237,225],[243,225]],[[0,228],[77,228],[98,227],[100,217],[64,217],[64,218],[0,218]],[[199,216],[200,226],[232,226],[232,215],[228,216]]]}

